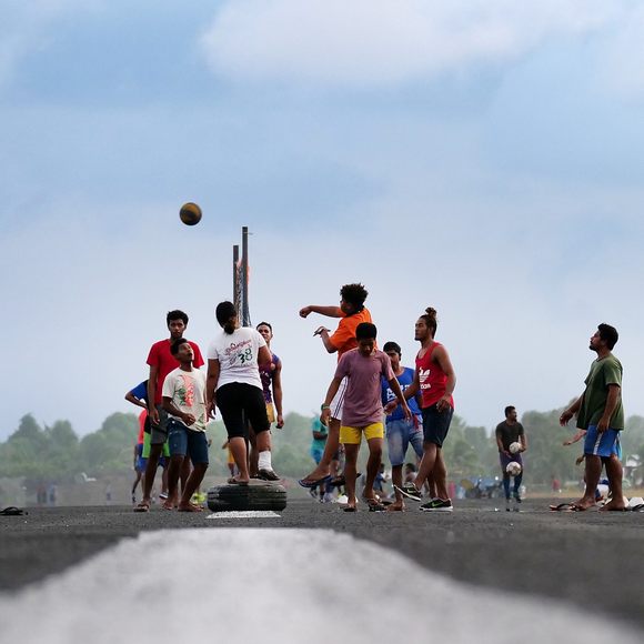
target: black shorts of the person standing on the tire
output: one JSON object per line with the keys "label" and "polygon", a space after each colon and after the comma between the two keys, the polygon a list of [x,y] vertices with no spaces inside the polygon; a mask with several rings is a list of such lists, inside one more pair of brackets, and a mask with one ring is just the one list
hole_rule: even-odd
{"label": "black shorts of the person standing on the tire", "polygon": [[230,382],[217,390],[217,406],[221,412],[229,439],[248,437],[246,421],[255,434],[271,427],[264,392],[245,382]]}

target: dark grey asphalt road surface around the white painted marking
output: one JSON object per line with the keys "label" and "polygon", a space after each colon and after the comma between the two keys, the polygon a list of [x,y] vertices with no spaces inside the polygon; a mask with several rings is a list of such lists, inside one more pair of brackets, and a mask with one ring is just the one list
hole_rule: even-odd
{"label": "dark grey asphalt road surface around the white painted marking", "polygon": [[346,514],[306,499],[290,501],[281,519],[217,521],[158,507],[33,509],[0,517],[0,590],[11,593],[141,531],[314,527],[373,541],[483,593],[546,596],[644,632],[644,513],[554,513],[542,500],[525,501],[521,513],[494,509],[494,501],[462,501],[452,514],[427,514],[410,502],[405,513]]}

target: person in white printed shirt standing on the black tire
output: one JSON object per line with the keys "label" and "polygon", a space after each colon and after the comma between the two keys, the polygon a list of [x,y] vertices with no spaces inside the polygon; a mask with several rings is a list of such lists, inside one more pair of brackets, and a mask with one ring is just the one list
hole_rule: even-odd
{"label": "person in white printed shirt standing on the black tire", "polygon": [[266,404],[259,368],[268,368],[271,352],[265,340],[254,329],[240,326],[232,302],[220,302],[215,311],[222,328],[208,348],[208,379],[205,384],[207,412],[221,412],[230,449],[239,474],[229,483],[248,485],[248,427],[246,420],[256,434],[259,473],[269,479],[271,464],[271,434]]}

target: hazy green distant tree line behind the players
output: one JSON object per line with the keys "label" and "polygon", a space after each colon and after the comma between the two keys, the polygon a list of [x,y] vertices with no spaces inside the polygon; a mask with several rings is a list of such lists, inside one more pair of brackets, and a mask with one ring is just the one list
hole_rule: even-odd
{"label": "hazy green distant tree line behind the players", "polygon": [[[559,425],[562,410],[531,411],[523,414],[529,451],[525,454],[526,484],[550,484],[576,481],[581,470],[574,461],[582,453],[582,443],[564,447],[562,442],[574,429]],[[291,413],[283,430],[273,430],[273,463],[284,476],[300,477],[312,467],[311,416]],[[18,429],[0,443],[0,477],[24,477],[27,484],[72,482],[81,473],[111,476],[132,470],[132,450],[139,423],[132,413],[113,413],[95,432],[79,437],[69,421],[41,426],[31,414],[24,415]],[[221,449],[225,431],[220,422],[208,430],[212,437],[210,473],[225,473],[227,453]],[[631,416],[622,434],[624,460],[634,454],[644,456],[644,417]],[[444,447],[450,479],[497,475],[499,455],[493,429],[470,426],[454,416]],[[411,450],[407,455],[412,460]],[[385,464],[386,464],[385,455]]]}

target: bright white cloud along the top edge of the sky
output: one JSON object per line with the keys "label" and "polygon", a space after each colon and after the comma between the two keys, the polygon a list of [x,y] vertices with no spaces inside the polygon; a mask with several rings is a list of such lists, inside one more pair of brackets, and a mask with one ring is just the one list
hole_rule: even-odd
{"label": "bright white cloud along the top edge of the sky", "polygon": [[598,0],[235,0],[201,44],[232,80],[382,88],[524,54],[604,26]]}

